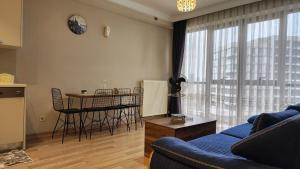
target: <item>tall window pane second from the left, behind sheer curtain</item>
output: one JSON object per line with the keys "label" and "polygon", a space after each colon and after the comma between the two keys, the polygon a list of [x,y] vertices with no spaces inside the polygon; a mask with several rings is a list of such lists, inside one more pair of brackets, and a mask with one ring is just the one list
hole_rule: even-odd
{"label": "tall window pane second from the left, behind sheer curtain", "polygon": [[238,36],[237,26],[214,31],[210,116],[217,118],[218,130],[236,124]]}

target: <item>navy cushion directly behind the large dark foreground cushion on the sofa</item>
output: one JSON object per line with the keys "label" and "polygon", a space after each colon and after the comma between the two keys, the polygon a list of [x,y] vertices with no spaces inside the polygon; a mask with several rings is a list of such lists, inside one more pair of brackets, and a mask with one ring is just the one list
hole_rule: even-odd
{"label": "navy cushion directly behind the large dark foreground cushion on the sofa", "polygon": [[285,119],[288,119],[298,114],[299,112],[294,109],[288,109],[277,113],[262,113],[255,119],[250,134],[253,134],[264,128],[270,127],[276,123],[279,123]]}

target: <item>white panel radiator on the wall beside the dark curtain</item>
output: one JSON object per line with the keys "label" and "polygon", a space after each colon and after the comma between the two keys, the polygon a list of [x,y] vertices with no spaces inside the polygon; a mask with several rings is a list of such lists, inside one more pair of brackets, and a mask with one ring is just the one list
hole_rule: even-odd
{"label": "white panel radiator on the wall beside the dark curtain", "polygon": [[167,114],[168,82],[143,80],[142,87],[144,88],[143,117]]}

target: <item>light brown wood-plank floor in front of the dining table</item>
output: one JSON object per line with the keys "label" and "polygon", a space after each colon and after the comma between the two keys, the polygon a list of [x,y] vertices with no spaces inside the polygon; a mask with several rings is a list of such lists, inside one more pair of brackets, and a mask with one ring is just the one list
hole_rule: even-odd
{"label": "light brown wood-plank floor in front of the dining table", "polygon": [[144,158],[144,128],[118,129],[114,136],[108,132],[94,132],[92,140],[78,142],[75,135],[67,136],[61,144],[61,135],[54,140],[50,135],[31,138],[26,152],[32,163],[9,169],[146,169]]}

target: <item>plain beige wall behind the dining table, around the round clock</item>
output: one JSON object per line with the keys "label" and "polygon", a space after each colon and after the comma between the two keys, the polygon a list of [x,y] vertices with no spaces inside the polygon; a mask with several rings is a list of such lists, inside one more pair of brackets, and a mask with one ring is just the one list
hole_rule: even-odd
{"label": "plain beige wall behind the dining table, around the round clock", "polygon": [[[74,35],[72,14],[86,18],[88,31]],[[103,37],[103,27],[111,36]],[[28,84],[28,134],[51,131],[57,118],[50,88],[93,91],[134,87],[143,79],[169,77],[171,30],[72,0],[24,0],[23,48],[17,50],[17,80]],[[40,116],[46,121],[40,122]]]}

